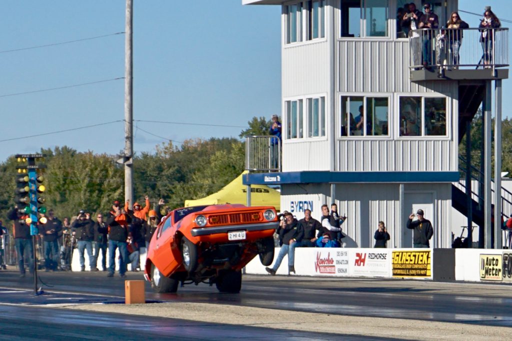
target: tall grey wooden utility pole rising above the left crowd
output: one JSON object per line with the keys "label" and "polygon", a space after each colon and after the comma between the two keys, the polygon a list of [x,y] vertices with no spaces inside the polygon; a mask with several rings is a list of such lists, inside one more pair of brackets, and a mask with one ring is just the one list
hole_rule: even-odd
{"label": "tall grey wooden utility pole rising above the left crowd", "polygon": [[126,0],[126,28],[124,36],[124,200],[133,205],[133,0]]}

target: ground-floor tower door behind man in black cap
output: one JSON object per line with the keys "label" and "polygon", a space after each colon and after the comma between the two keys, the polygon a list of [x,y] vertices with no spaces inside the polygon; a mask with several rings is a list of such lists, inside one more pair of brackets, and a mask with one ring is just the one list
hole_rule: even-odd
{"label": "ground-floor tower door behind man in black cap", "polygon": [[[425,219],[429,219],[435,226],[434,222],[434,193],[433,192],[404,192],[403,206],[403,226],[402,226],[402,245],[401,247],[413,247],[413,231],[407,228],[407,220],[411,213],[421,209],[424,212]],[[418,219],[417,216],[413,220]],[[431,243],[432,246],[432,243]]]}

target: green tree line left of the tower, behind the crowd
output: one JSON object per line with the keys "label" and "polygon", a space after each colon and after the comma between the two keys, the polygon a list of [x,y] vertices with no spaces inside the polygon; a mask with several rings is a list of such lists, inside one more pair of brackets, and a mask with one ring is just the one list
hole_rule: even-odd
{"label": "green tree line left of the tower, behind the crowd", "polygon": [[[268,134],[270,120],[254,117],[239,137]],[[56,216],[71,217],[79,210],[107,212],[114,200],[124,201],[124,165],[117,156],[78,152],[68,146],[41,148],[47,155],[42,164],[46,191],[44,206]],[[133,159],[134,200],[152,204],[163,198],[166,208],[183,207],[185,200],[219,191],[244,170],[245,146],[237,138],[190,139],[180,146],[171,141],[141,152]],[[14,206],[16,166],[14,155],[0,163],[0,218],[5,226],[7,212]]]}

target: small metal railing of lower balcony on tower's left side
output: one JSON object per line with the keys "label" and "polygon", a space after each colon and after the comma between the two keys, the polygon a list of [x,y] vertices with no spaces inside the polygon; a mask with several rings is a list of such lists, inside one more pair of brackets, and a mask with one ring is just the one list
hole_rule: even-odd
{"label": "small metal railing of lower balcony on tower's left side", "polygon": [[281,140],[270,135],[245,138],[245,169],[251,172],[279,172]]}

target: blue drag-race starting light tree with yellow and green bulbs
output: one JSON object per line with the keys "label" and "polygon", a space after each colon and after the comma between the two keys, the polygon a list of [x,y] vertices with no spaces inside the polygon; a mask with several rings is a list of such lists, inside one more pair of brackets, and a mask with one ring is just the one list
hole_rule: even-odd
{"label": "blue drag-race starting light tree with yellow and green bulbs", "polygon": [[40,161],[45,156],[44,154],[17,154],[15,156],[19,163],[26,163],[26,165],[16,167],[20,174],[16,181],[16,194],[21,196],[16,198],[16,203],[30,205],[22,210],[25,214],[29,214],[29,217],[25,219],[25,223],[30,225],[30,234],[32,236],[38,233],[37,223],[40,222],[44,224],[47,221],[45,217],[37,219],[37,213],[46,213],[45,207],[37,207],[38,203],[45,202],[45,198],[38,197],[37,194],[46,190],[44,185],[40,185],[44,177],[37,174],[37,170],[44,169],[46,166],[36,165],[36,162]]}

